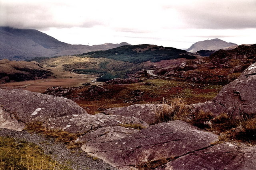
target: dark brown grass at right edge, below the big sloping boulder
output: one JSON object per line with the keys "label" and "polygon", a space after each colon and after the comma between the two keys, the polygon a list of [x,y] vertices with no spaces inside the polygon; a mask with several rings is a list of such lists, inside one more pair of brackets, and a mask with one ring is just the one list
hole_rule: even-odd
{"label": "dark brown grass at right edge, below the big sloping boulder", "polygon": [[[211,121],[211,127],[209,126],[209,121]],[[210,112],[200,111],[192,118],[192,124],[217,134],[223,133],[219,141],[233,139],[238,142],[256,144],[255,117],[232,117],[227,113],[214,116]],[[236,128],[238,127],[242,130],[236,132]]]}

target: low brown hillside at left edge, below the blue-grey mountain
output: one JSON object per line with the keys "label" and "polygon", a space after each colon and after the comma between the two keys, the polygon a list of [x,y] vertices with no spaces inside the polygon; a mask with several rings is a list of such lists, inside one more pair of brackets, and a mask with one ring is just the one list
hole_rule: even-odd
{"label": "low brown hillside at left edge, below the blue-grey mountain", "polygon": [[48,78],[52,74],[37,62],[0,60],[0,84]]}

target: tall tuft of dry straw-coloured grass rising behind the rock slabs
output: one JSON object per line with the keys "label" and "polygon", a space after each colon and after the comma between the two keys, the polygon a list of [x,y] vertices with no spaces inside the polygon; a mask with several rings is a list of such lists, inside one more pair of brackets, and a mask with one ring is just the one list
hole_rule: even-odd
{"label": "tall tuft of dry straw-coloured grass rising behind the rock slabs", "polygon": [[174,98],[170,106],[167,103],[163,102],[162,108],[156,109],[156,123],[173,121],[188,113],[188,107],[182,98]]}

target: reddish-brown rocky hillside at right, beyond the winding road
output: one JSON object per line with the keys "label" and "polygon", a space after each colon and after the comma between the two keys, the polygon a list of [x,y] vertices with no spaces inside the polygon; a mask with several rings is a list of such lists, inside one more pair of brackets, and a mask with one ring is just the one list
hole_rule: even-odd
{"label": "reddish-brown rocky hillside at right, beyond the winding road", "polygon": [[181,80],[209,84],[227,84],[256,61],[256,45],[240,45],[232,50],[219,50],[203,59],[184,61],[165,68],[155,74]]}

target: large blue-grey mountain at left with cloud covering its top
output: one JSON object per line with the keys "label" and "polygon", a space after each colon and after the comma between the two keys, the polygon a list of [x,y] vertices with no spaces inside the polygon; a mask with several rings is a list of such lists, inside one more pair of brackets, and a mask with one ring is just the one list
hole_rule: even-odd
{"label": "large blue-grey mountain at left with cloud covering its top", "polygon": [[107,50],[128,43],[102,45],[71,45],[36,29],[0,27],[0,59],[25,60],[34,57],[74,55],[89,51]]}

